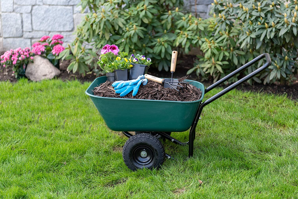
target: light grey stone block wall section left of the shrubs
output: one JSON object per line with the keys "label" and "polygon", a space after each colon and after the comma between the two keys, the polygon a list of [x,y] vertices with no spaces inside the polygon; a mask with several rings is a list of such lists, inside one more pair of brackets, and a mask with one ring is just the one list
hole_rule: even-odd
{"label": "light grey stone block wall section left of the shrubs", "polygon": [[64,36],[65,45],[84,14],[80,0],[0,0],[0,51],[31,47],[44,35]]}

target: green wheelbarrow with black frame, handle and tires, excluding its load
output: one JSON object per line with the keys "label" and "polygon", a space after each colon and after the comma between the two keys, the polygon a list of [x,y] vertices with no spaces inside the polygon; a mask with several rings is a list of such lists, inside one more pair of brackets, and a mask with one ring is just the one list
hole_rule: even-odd
{"label": "green wheelbarrow with black frame, handle and tires, excluding its load", "polygon": [[[266,58],[266,63],[262,67],[202,102],[205,93],[218,87],[263,58]],[[159,138],[167,139],[174,144],[188,145],[188,157],[191,158],[193,156],[195,128],[201,119],[200,115],[203,108],[259,74],[270,64],[269,54],[264,53],[206,89],[200,82],[185,80],[202,91],[201,98],[191,102],[95,96],[93,93],[94,87],[104,83],[106,81],[105,76],[96,78],[85,93],[90,96],[108,128],[113,131],[121,131],[129,138],[122,150],[122,157],[128,168],[133,171],[142,168],[159,169],[166,158],[173,159],[165,153]],[[188,142],[184,143],[171,137],[171,132],[184,132],[188,129],[190,129]],[[130,132],[135,132],[135,135],[132,135]]]}

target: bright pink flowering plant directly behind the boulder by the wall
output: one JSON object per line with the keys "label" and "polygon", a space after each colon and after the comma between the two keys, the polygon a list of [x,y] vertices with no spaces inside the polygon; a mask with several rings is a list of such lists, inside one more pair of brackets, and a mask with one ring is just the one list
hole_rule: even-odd
{"label": "bright pink flowering plant directly behind the boulder by the wall", "polygon": [[[50,36],[43,36],[40,41],[35,42],[32,45],[32,53],[35,55],[42,55],[48,58],[52,64],[57,67],[58,56],[65,49],[61,44],[63,44],[64,37],[60,34]],[[59,68],[59,67],[58,67]]]}

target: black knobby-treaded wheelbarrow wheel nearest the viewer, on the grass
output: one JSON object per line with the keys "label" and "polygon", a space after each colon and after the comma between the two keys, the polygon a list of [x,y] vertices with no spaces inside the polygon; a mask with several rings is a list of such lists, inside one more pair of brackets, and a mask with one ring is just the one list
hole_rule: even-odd
{"label": "black knobby-treaded wheelbarrow wheel nearest the viewer, on the grass", "polygon": [[[142,151],[146,157],[142,158]],[[131,136],[124,144],[122,157],[126,166],[136,171],[137,169],[159,169],[164,163],[165,152],[162,143],[149,133],[138,133]]]}

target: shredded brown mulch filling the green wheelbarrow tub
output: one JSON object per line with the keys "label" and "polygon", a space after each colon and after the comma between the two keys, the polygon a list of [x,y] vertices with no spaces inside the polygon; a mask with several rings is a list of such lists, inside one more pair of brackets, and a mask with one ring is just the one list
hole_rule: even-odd
{"label": "shredded brown mulch filling the green wheelbarrow tub", "polygon": [[[184,81],[187,77],[180,78],[179,81]],[[108,98],[126,98],[126,99],[146,99],[146,100],[165,100],[165,101],[196,101],[202,96],[202,92],[199,88],[187,83],[182,84],[184,91],[178,91],[170,88],[164,88],[162,84],[148,80],[146,85],[142,85],[139,88],[136,96],[132,96],[132,91],[120,97],[119,94],[115,93],[114,87],[112,87],[111,81],[106,81],[98,87],[95,87],[93,92],[94,95]]]}

